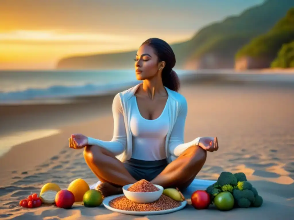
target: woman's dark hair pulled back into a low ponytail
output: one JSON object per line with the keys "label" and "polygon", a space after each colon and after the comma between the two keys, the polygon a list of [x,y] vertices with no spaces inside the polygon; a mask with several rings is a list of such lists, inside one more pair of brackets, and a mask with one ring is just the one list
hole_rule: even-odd
{"label": "woman's dark hair pulled back into a low ponytail", "polygon": [[162,83],[168,89],[178,92],[180,89],[180,80],[173,67],[176,65],[176,56],[171,46],[159,38],[149,38],[142,45],[150,45],[156,55],[158,62],[165,61],[166,65],[162,70]]}

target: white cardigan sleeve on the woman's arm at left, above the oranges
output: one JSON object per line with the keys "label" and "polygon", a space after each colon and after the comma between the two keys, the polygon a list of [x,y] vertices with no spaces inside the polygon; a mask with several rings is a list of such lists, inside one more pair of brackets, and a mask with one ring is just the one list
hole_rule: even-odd
{"label": "white cardigan sleeve on the woman's arm at left, above the oranges", "polygon": [[112,103],[112,114],[114,121],[113,137],[111,141],[101,141],[95,138],[88,137],[89,145],[98,145],[103,147],[115,155],[123,153],[126,149],[127,137],[126,127],[123,119],[123,110],[121,106],[120,96],[116,94]]}

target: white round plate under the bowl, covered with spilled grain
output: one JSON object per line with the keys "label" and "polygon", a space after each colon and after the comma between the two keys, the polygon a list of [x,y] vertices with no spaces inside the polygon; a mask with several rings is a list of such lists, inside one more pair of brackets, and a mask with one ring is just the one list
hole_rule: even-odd
{"label": "white round plate under the bowl, covered with spilled grain", "polygon": [[173,208],[173,209],[167,209],[167,210],[160,210],[160,211],[127,211],[127,210],[121,210],[121,209],[115,209],[112,208],[111,206],[109,206],[109,202],[116,198],[116,197],[120,197],[123,196],[124,194],[119,194],[119,195],[114,195],[114,196],[109,196],[104,198],[103,200],[103,205],[106,209],[109,209],[111,211],[115,211],[115,212],[120,212],[123,214],[127,214],[127,215],[161,215],[161,214],[167,214],[167,213],[171,213],[171,212],[175,212],[175,211],[179,211],[181,209],[183,209],[186,204],[187,201],[183,201],[181,202],[181,206]]}

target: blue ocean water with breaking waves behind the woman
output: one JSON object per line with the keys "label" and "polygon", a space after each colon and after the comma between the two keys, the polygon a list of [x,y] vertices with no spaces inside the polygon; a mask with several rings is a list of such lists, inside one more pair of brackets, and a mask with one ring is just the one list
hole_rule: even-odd
{"label": "blue ocean water with breaking waves behind the woman", "polygon": [[0,103],[105,94],[138,82],[134,70],[0,71]]}

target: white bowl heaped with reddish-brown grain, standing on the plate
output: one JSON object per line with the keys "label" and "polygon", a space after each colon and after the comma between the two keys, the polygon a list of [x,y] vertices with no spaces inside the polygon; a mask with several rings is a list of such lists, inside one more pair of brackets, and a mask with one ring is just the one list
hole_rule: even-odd
{"label": "white bowl heaped with reddish-brown grain, standing on the plate", "polygon": [[155,192],[131,192],[131,191],[128,191],[128,188],[131,185],[133,184],[128,184],[123,186],[123,194],[127,197],[127,199],[136,203],[155,202],[161,197],[163,193],[163,187],[160,185],[153,184],[159,189],[158,191],[155,191]]}

